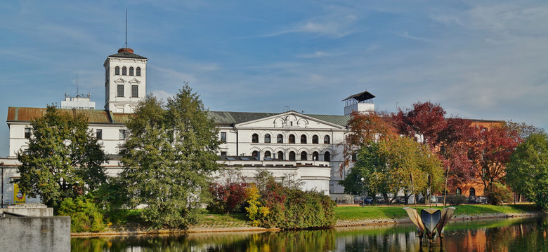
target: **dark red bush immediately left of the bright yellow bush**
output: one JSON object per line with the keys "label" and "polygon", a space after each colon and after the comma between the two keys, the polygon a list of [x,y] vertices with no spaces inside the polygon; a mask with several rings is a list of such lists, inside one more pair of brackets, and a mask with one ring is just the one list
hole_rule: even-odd
{"label": "dark red bush immediately left of the bright yellow bush", "polygon": [[207,209],[218,214],[243,213],[246,204],[246,188],[249,186],[239,172],[233,170],[223,174],[222,183],[211,183],[211,202]]}

